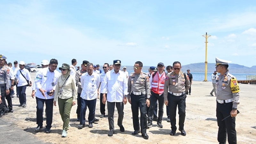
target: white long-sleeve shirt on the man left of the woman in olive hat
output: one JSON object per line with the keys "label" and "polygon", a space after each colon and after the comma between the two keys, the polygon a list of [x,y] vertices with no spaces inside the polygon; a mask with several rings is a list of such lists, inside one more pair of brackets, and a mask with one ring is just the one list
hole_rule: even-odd
{"label": "white long-sleeve shirt on the man left of the woman in olive hat", "polygon": [[[60,73],[57,70],[54,70],[53,72],[50,72],[49,67],[43,68],[40,71],[36,73],[36,94],[35,96],[40,99],[53,99],[53,95],[49,96],[47,95],[47,92],[50,92],[51,90],[55,90],[57,80],[60,76]],[[39,89],[42,88],[46,92],[44,92],[45,96],[42,95],[42,93],[39,91]]]}

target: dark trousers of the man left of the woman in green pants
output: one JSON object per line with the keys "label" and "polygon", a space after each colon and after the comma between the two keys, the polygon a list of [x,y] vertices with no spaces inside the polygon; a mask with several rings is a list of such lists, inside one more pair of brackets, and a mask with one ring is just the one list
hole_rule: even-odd
{"label": "dark trousers of the man left of the woman in green pants", "polygon": [[43,111],[45,103],[45,115],[46,115],[46,129],[52,127],[52,111],[53,111],[53,99],[40,99],[36,97],[36,124],[37,126],[43,126]]}

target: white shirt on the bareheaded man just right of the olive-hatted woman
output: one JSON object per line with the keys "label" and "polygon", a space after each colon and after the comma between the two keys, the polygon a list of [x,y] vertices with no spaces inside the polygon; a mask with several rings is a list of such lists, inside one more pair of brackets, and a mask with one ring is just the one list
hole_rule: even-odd
{"label": "white shirt on the bareheaded man just right of the olive-hatted woman", "polygon": [[81,98],[84,100],[94,100],[97,99],[97,90],[100,86],[100,75],[92,72],[90,76],[88,72],[82,74],[81,76],[81,86],[83,88],[81,93]]}

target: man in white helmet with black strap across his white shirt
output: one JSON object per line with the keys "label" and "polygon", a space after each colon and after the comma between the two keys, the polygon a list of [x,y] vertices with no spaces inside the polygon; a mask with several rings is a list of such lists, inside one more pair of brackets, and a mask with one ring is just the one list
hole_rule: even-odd
{"label": "man in white helmet with black strap across his white shirt", "polygon": [[[27,84],[29,86],[32,86],[32,82],[31,82],[31,76],[29,71],[25,68],[25,62],[24,61],[20,61],[19,62],[19,66],[20,69],[17,71],[16,73],[16,78],[17,80],[17,89],[18,89],[18,93],[19,93],[19,99],[20,99],[20,105],[19,107],[27,107],[27,99],[26,99],[26,88],[27,88]],[[28,80],[28,81],[27,81]]]}

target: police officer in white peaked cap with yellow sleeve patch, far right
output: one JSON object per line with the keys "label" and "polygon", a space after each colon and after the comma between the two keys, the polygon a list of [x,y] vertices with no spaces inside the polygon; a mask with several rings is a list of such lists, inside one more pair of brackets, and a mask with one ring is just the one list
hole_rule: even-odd
{"label": "police officer in white peaked cap with yellow sleeve patch, far right", "polygon": [[[216,58],[216,71],[220,73],[216,77],[216,116],[219,126],[218,141],[220,144],[226,143],[227,134],[228,143],[236,144],[236,115],[240,89],[236,77],[227,71],[228,63],[230,62]],[[229,117],[224,119],[227,116]]]}

